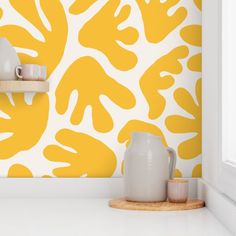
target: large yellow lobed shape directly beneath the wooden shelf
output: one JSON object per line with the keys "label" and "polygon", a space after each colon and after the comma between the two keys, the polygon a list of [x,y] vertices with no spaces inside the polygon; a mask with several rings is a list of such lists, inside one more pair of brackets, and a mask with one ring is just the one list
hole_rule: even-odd
{"label": "large yellow lobed shape directly beneath the wooden shelf", "polygon": [[33,147],[41,138],[48,121],[49,99],[47,94],[36,94],[32,104],[24,100],[24,94],[12,94],[14,105],[6,94],[0,93],[0,110],[10,119],[0,118],[0,133],[12,135],[0,141],[0,159]]}

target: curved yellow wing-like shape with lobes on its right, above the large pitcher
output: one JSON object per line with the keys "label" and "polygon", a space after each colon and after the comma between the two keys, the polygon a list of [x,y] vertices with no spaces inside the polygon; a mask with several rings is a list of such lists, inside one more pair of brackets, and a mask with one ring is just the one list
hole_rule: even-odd
{"label": "curved yellow wing-like shape with lobes on its right, above the large pitcher", "polygon": [[177,47],[159,58],[140,79],[141,90],[149,104],[150,119],[158,118],[165,109],[166,101],[159,90],[168,89],[174,84],[172,75],[161,76],[161,73],[180,74],[182,72],[182,65],[179,60],[187,56],[187,47]]}

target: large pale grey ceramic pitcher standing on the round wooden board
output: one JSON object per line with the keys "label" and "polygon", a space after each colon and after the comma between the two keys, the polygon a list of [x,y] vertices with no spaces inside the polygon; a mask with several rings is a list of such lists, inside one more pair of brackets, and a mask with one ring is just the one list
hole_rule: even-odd
{"label": "large pale grey ceramic pitcher standing on the round wooden board", "polygon": [[161,137],[134,132],[124,157],[125,197],[129,201],[160,202],[167,198],[167,181],[173,178],[176,154]]}

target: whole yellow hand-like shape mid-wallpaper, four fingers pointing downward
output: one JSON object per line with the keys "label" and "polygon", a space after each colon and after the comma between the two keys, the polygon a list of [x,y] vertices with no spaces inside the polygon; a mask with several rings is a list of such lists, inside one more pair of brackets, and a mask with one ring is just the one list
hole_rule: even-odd
{"label": "whole yellow hand-like shape mid-wallpaper, four fingers pointing downward", "polygon": [[134,95],[124,86],[109,77],[92,57],[82,57],[67,70],[56,90],[56,109],[64,114],[73,90],[79,93],[76,107],[71,116],[72,124],[79,124],[87,106],[92,107],[93,124],[97,131],[107,132],[113,128],[110,114],[100,102],[105,95],[124,109],[135,105]]}

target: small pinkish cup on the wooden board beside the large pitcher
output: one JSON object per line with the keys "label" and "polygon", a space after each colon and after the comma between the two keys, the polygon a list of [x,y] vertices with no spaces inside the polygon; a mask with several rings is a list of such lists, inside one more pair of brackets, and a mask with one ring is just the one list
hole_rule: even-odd
{"label": "small pinkish cup on the wooden board beside the large pitcher", "polygon": [[169,202],[184,203],[188,200],[188,181],[181,179],[168,180]]}

